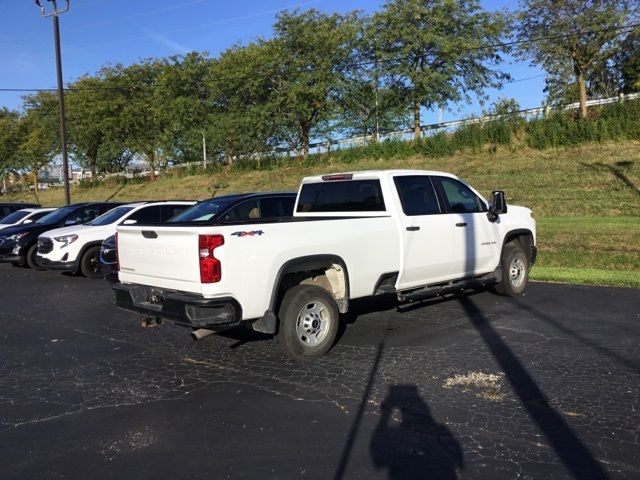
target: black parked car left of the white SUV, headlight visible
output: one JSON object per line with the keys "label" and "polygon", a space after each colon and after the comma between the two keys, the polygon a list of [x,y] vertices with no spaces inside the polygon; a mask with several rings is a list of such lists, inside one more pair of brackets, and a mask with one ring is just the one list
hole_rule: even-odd
{"label": "black parked car left of the white SUV, headlight visible", "polygon": [[37,269],[35,257],[38,248],[38,235],[54,228],[90,222],[119,205],[122,204],[75,203],[54,210],[34,223],[0,230],[0,262]]}

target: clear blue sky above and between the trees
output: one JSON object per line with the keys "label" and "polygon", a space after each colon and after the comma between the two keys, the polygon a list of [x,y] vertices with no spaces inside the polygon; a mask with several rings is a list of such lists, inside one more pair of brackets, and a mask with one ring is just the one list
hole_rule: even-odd
{"label": "clear blue sky above and between the trees", "polygon": [[[64,5],[64,0],[58,0]],[[42,0],[43,4],[47,4]],[[380,0],[72,0],[60,17],[65,82],[102,65],[130,64],[141,58],[191,50],[215,56],[229,46],[269,37],[275,14],[283,9],[326,12],[374,11]],[[515,0],[483,0],[491,10],[514,9]],[[505,64],[514,79],[541,74],[527,62]],[[0,88],[55,86],[53,29],[31,0],[0,0]],[[544,78],[506,85],[499,95],[514,97],[522,108],[541,104]],[[0,107],[19,108],[21,93],[1,92]],[[444,113],[453,120],[480,112],[477,102]],[[423,123],[436,120],[426,113]]]}

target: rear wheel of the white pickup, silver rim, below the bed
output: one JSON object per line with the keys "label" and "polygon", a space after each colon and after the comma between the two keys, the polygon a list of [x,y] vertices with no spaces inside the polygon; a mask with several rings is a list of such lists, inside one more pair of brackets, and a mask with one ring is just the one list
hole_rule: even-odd
{"label": "rear wheel of the white pickup, silver rim, below the bed", "polygon": [[285,293],[278,312],[278,343],[295,360],[320,357],[333,346],[340,313],[334,298],[314,285],[297,285]]}

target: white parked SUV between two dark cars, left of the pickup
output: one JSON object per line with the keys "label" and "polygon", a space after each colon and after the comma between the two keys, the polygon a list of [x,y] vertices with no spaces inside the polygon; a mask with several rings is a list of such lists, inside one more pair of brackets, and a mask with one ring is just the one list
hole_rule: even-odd
{"label": "white parked SUV between two dark cars, left of the pickup", "polygon": [[131,203],[109,210],[85,225],[49,230],[38,237],[36,262],[46,270],[80,272],[88,278],[102,278],[100,245],[116,233],[118,225],[163,223],[195,203]]}

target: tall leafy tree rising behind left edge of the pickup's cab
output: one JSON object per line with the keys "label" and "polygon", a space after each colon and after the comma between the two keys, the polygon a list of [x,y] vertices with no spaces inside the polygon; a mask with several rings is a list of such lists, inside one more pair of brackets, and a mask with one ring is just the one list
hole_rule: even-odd
{"label": "tall leafy tree rising behind left edge of the pickup's cab", "polygon": [[268,42],[274,54],[268,108],[281,125],[279,137],[303,158],[313,128],[334,111],[358,22],[354,13],[327,15],[314,9],[277,17]]}

